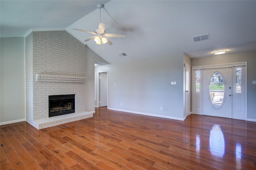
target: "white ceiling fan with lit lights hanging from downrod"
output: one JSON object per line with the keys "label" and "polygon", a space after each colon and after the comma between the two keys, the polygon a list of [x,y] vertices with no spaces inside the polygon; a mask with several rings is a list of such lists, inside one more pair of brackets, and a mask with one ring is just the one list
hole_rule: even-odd
{"label": "white ceiling fan with lit lights hanging from downrod", "polygon": [[76,28],[73,28],[73,29],[78,30],[78,31],[83,31],[86,33],[94,34],[94,36],[92,36],[84,41],[89,41],[91,39],[94,39],[96,44],[99,44],[99,45],[101,43],[103,43],[103,44],[108,43],[109,45],[112,45],[113,43],[107,37],[125,38],[125,35],[122,35],[122,34],[106,33],[105,23],[101,22],[101,8],[103,7],[103,4],[98,4],[97,7],[100,8],[100,24],[99,24],[99,27],[94,30],[94,32],[86,31],[86,30],[82,30],[82,29],[76,29]]}

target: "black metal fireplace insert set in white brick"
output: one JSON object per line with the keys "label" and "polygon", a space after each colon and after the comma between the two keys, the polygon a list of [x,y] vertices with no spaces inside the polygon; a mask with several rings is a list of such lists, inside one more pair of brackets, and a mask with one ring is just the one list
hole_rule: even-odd
{"label": "black metal fireplace insert set in white brick", "polygon": [[49,96],[49,117],[75,112],[75,95]]}

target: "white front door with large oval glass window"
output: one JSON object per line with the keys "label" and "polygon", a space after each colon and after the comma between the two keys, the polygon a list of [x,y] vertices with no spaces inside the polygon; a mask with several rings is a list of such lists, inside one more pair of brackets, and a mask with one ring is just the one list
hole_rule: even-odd
{"label": "white front door with large oval glass window", "polygon": [[204,69],[203,115],[232,118],[232,88],[232,65]]}

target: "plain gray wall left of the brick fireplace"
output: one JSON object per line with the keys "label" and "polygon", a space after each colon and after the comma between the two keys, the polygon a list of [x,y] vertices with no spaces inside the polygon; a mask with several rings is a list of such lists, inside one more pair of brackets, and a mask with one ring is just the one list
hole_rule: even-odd
{"label": "plain gray wall left of the brick fireplace", "polygon": [[25,38],[0,39],[0,124],[26,120]]}

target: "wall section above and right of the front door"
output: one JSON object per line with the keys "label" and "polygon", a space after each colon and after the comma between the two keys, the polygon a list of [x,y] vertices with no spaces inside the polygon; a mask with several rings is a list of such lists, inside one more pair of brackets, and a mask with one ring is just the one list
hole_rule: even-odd
{"label": "wall section above and right of the front door", "polygon": [[191,63],[192,66],[202,66],[222,63],[236,63],[242,61],[248,61],[247,117],[248,119],[256,120],[256,84],[252,84],[252,81],[256,80],[256,51],[202,57],[198,59],[192,59]]}

